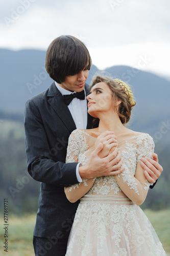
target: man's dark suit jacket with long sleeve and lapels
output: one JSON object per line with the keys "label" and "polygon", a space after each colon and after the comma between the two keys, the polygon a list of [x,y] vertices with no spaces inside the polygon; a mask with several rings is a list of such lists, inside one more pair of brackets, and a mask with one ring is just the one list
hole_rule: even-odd
{"label": "man's dark suit jacket with long sleeve and lapels", "polygon": [[[86,95],[88,85],[85,84]],[[88,114],[87,129],[92,117]],[[67,238],[79,204],[70,203],[64,186],[78,183],[77,163],[65,164],[68,137],[76,125],[53,82],[26,102],[25,143],[28,172],[41,182],[34,236]],[[65,245],[66,246],[66,245]]]}

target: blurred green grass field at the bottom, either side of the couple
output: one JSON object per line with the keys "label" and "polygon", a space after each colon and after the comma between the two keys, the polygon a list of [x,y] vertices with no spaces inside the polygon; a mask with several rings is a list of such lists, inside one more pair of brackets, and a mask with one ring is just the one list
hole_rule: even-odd
{"label": "blurred green grass field at the bottom, either side of the couple", "polygon": [[[154,226],[167,255],[170,255],[170,209],[161,211],[144,210]],[[8,252],[4,251],[4,219],[0,219],[0,255],[7,256],[34,256],[32,246],[33,229],[36,215],[21,218],[10,217],[8,228]],[[75,255],[76,256],[76,255]]]}

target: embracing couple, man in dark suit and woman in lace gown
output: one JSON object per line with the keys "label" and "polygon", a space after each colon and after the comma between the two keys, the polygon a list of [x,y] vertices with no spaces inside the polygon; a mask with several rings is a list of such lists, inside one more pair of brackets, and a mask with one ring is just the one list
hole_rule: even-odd
{"label": "embracing couple, man in dark suit and woman in lace gown", "polygon": [[139,207],[162,167],[150,135],[125,126],[130,87],[98,75],[89,88],[91,58],[73,36],[51,43],[45,67],[54,82],[25,111],[28,172],[41,182],[35,255],[166,255]]}

